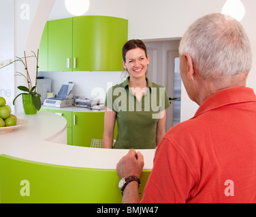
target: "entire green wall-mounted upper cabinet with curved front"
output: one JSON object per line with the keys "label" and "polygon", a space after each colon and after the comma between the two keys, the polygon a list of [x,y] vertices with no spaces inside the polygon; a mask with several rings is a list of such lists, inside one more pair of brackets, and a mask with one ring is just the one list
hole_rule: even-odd
{"label": "entire green wall-mounted upper cabinet with curved front", "polygon": [[[48,45],[47,71],[122,71],[128,21],[108,16],[78,16],[47,22],[40,50]],[[48,33],[46,33],[48,31]],[[45,37],[46,38],[46,37]],[[44,71],[46,55],[39,56]]]}

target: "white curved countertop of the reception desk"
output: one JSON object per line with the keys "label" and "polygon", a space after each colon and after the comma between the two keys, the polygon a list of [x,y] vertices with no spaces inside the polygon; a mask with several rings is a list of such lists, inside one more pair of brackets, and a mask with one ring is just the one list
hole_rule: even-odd
{"label": "white curved countertop of the reception desk", "polygon": [[[54,113],[39,111],[37,115],[18,113],[16,116],[29,123],[13,132],[0,133],[0,155],[54,165],[115,170],[116,163],[129,151],[95,149],[53,142],[61,137],[65,140],[67,123],[64,117]],[[155,149],[138,151],[144,155],[144,170],[152,169]]]}

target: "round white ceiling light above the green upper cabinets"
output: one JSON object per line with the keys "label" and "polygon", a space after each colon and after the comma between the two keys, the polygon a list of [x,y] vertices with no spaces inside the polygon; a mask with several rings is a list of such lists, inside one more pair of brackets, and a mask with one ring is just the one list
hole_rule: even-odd
{"label": "round white ceiling light above the green upper cabinets", "polygon": [[89,9],[89,0],[65,0],[67,11],[74,16],[81,16]]}

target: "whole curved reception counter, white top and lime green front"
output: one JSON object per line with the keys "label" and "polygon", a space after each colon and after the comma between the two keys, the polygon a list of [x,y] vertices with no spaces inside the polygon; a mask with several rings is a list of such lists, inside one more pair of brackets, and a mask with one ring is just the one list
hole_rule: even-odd
{"label": "whole curved reception counter, white top and lime green front", "polygon": [[[66,120],[53,113],[16,116],[28,123],[0,133],[0,203],[121,203],[116,163],[129,150],[67,145]],[[155,150],[140,152],[142,196]]]}

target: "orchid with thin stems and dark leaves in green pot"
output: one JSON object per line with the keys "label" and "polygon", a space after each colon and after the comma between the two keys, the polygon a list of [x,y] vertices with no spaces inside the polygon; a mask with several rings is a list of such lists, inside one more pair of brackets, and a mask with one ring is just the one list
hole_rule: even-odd
{"label": "orchid with thin stems and dark leaves in green pot", "polygon": [[[26,52],[24,52],[24,57],[20,58],[16,56],[16,60],[5,60],[3,62],[0,62],[0,69],[4,68],[6,66],[9,66],[10,64],[14,63],[14,62],[22,62],[22,64],[25,66],[25,71],[26,73],[20,73],[20,72],[16,72],[17,74],[15,76],[22,76],[25,77],[25,79],[27,80],[27,87],[26,86],[18,86],[18,90],[21,90],[25,93],[21,93],[18,94],[18,96],[22,95],[22,94],[31,94],[33,102],[35,104],[35,109],[37,109],[37,111],[39,111],[41,109],[42,106],[42,102],[41,102],[41,95],[38,94],[36,92],[36,88],[37,88],[37,75],[38,75],[38,50],[37,50],[37,55],[35,54],[35,52],[33,52],[32,56],[26,56]],[[32,82],[31,82],[31,77],[29,75],[29,71],[28,71],[28,67],[27,67],[27,58],[35,58],[36,62],[37,62],[37,66],[36,66],[36,77],[35,77],[35,85],[32,86]],[[14,104],[16,98],[18,98],[18,96],[16,96],[14,98],[14,101],[12,102]]]}

